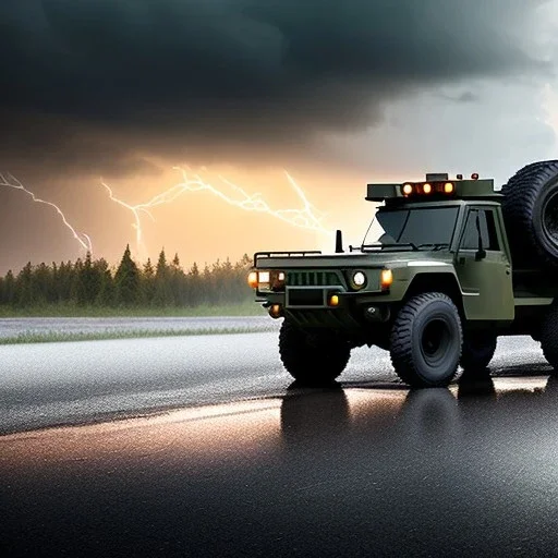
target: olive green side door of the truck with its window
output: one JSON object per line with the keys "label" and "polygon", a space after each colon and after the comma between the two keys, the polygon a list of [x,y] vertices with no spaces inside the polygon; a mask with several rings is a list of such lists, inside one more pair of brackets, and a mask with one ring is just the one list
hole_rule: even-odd
{"label": "olive green side door of the truck with its window", "polygon": [[[512,320],[511,265],[504,250],[499,214],[494,207],[468,207],[456,270],[468,319]],[[485,256],[477,258],[478,232]]]}

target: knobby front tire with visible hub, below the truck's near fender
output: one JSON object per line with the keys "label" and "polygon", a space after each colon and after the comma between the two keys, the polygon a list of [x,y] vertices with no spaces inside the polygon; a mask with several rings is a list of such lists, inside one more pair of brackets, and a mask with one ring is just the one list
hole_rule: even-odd
{"label": "knobby front tire with visible hub, below the truck's near fender", "polygon": [[412,298],[391,329],[391,362],[412,387],[442,387],[451,383],[461,357],[461,318],[452,300],[433,292]]}

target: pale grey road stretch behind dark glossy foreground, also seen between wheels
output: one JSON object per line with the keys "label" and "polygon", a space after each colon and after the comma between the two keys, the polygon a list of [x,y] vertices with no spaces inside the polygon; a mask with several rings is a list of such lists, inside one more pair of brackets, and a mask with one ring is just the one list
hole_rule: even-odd
{"label": "pale grey road stretch behind dark glossy foreground, also seen between wheels", "polygon": [[[277,332],[0,345],[0,434],[184,405],[282,396]],[[548,373],[538,343],[502,338],[493,361]],[[389,354],[352,351],[344,386],[396,383]]]}

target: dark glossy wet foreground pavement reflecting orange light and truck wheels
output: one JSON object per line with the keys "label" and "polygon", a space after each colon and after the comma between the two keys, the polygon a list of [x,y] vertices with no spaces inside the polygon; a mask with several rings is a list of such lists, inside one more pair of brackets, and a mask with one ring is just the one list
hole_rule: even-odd
{"label": "dark glossy wet foreground pavement reflecting orange light and truck wheels", "polygon": [[[515,374],[517,371],[511,371]],[[0,437],[3,556],[556,556],[547,376]]]}

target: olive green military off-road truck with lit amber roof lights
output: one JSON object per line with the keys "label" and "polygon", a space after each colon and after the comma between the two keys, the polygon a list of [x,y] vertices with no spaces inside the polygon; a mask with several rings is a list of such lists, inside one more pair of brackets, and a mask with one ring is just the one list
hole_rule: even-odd
{"label": "olive green military off-road truck with lit amber roof lights", "polygon": [[[485,371],[498,336],[527,335],[558,369],[558,160],[494,180],[447,173],[368,184],[384,233],[331,254],[257,252],[256,302],[282,318],[279,353],[302,385],[324,385],[351,350],[390,352],[412,387]],[[374,221],[373,221],[374,222]],[[368,229],[369,230],[369,229]]]}

